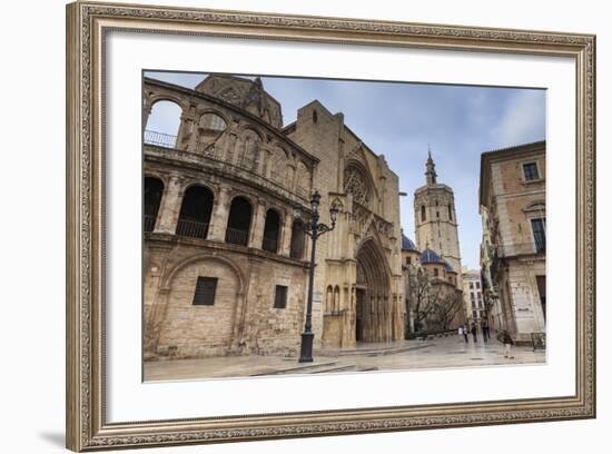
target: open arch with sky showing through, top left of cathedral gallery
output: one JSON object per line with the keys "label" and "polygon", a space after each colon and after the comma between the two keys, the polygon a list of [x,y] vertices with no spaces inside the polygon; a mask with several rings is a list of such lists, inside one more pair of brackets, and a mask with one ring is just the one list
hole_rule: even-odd
{"label": "open arch with sky showing through, top left of cathedral gallery", "polygon": [[174,101],[157,101],[145,128],[145,144],[176,148],[182,109]]}

